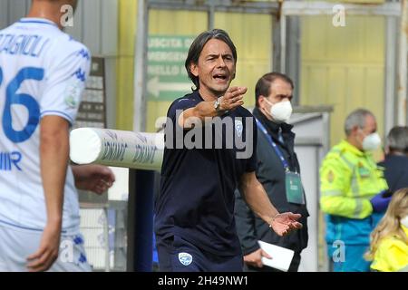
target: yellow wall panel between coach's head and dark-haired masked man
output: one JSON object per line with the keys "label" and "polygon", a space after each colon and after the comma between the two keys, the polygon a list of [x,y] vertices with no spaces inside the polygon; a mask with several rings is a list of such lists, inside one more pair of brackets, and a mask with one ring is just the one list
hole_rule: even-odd
{"label": "yellow wall panel between coach's head and dark-haired masked man", "polygon": [[247,86],[246,107],[255,105],[255,85],[271,71],[272,17],[267,14],[216,13],[215,27],[228,32],[238,52],[237,77],[231,85]]}

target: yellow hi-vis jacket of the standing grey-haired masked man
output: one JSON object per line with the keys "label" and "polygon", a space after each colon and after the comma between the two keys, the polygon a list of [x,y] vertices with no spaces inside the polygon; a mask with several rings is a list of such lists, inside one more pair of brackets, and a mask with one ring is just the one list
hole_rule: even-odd
{"label": "yellow hi-vis jacket of the standing grey-haired masked man", "polygon": [[346,140],[330,150],[320,168],[320,207],[326,214],[363,219],[373,213],[370,199],[387,184],[369,152]]}

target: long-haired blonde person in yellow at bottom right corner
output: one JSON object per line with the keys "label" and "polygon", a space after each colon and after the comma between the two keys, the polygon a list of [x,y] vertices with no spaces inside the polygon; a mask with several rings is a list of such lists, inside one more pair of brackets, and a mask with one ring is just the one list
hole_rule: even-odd
{"label": "long-haired blonde person in yellow at bottom right corner", "polygon": [[408,188],[393,194],[390,205],[371,235],[367,260],[381,272],[408,272]]}

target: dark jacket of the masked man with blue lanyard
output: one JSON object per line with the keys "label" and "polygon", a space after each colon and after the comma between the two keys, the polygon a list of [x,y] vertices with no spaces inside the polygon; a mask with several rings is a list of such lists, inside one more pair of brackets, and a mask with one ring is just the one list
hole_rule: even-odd
{"label": "dark jacket of the masked man with blue lanyard", "polygon": [[[283,123],[276,124],[268,121],[267,118],[257,108],[253,112],[258,121],[267,128],[272,139],[277,143],[279,150],[283,153],[291,171],[300,172],[299,163],[294,151],[295,133],[292,132],[292,125]],[[278,141],[279,128],[282,130],[284,143]],[[306,205],[297,205],[287,202],[285,170],[282,162],[278,159],[277,153],[271,147],[262,131],[257,131],[257,179],[267,191],[267,196],[279,212],[291,211],[302,215],[300,222],[303,228],[287,235],[279,237],[268,227],[261,218],[258,218],[250,210],[236,191],[235,218],[239,241],[242,252],[248,255],[259,248],[257,240],[262,240],[280,247],[286,247],[300,253],[307,246],[307,217],[309,216]],[[306,200],[306,197],[305,197]]]}

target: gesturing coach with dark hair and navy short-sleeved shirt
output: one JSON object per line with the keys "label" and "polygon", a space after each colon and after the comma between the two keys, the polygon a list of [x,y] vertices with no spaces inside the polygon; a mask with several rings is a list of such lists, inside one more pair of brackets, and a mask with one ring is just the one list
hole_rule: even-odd
{"label": "gesturing coach with dark hair and navy short-sleeved shirt", "polygon": [[[223,142],[220,149],[168,146],[180,144],[177,130],[185,137],[197,129],[197,120],[206,127],[214,126],[209,120],[229,118],[235,124],[233,133],[242,134],[247,143],[257,147],[256,123],[242,107],[247,88],[229,88],[236,64],[236,47],[223,30],[199,34],[189,47],[185,66],[195,89],[170,105],[160,195],[155,202],[160,271],[242,271],[234,220],[234,190],[238,187],[248,206],[279,236],[302,227],[296,221],[300,215],[279,214],[267,198],[255,176],[255,152],[237,158],[240,149],[235,141],[232,148]],[[212,137],[221,134],[224,140],[235,136],[225,128],[210,131]]]}

